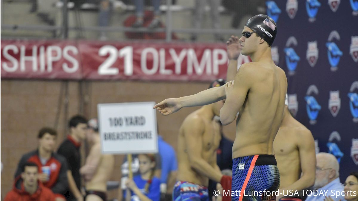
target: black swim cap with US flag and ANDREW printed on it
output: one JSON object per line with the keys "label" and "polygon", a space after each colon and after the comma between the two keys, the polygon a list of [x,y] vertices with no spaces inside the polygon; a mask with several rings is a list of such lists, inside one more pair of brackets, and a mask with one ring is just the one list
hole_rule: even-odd
{"label": "black swim cap with US flag and ANDREW printed on it", "polygon": [[248,28],[265,40],[270,46],[275,40],[277,34],[277,26],[275,21],[267,15],[255,15],[247,21]]}

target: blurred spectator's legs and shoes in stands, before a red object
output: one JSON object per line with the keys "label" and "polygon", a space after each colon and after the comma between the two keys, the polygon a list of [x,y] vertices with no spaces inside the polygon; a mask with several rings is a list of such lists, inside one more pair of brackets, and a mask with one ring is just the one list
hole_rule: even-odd
{"label": "blurred spectator's legs and shoes in stands, before a red object", "polygon": [[[137,19],[135,23],[132,25],[134,28],[142,27],[144,24],[144,0],[134,0],[136,6],[136,16]],[[152,4],[154,7],[154,18],[151,23],[148,25],[149,29],[158,28],[160,26],[160,0],[152,0]]]}

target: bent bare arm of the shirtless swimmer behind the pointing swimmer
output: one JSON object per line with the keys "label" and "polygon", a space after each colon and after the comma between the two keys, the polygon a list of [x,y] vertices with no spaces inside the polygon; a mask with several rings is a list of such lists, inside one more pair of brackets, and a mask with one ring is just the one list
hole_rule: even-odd
{"label": "bent bare arm of the shirtless swimmer behind the pointing swimmer", "polygon": [[190,153],[188,154],[190,166],[200,175],[220,182],[222,177],[221,172],[213,168],[202,158],[203,145],[201,142],[205,130],[204,122],[200,117],[191,117],[185,119],[183,124],[186,151]]}

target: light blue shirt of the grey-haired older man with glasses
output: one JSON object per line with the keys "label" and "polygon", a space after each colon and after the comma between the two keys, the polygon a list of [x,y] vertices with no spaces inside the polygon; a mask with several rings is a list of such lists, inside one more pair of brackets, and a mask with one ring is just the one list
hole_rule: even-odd
{"label": "light blue shirt of the grey-haired older man with glasses", "polygon": [[[344,196],[342,196],[343,188],[344,187],[342,183],[340,183],[338,177],[335,180],[328,183],[327,185],[323,186],[322,188],[318,188],[317,190],[312,190],[312,195],[307,196],[306,201],[323,201],[325,196],[327,197],[330,196],[334,201],[339,201],[339,200],[344,201]],[[309,192],[305,191],[305,195],[310,195],[310,194],[311,194],[310,191]]]}

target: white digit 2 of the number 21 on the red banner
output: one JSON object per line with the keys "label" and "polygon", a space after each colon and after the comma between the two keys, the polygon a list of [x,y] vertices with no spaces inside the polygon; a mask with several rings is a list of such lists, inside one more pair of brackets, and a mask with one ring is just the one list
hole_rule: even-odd
{"label": "white digit 2 of the number 21 on the red banner", "polygon": [[101,57],[109,54],[109,57],[98,67],[98,74],[100,75],[116,75],[118,74],[118,68],[113,67],[112,65],[117,60],[117,48],[112,45],[105,45],[100,48],[98,55]]}

